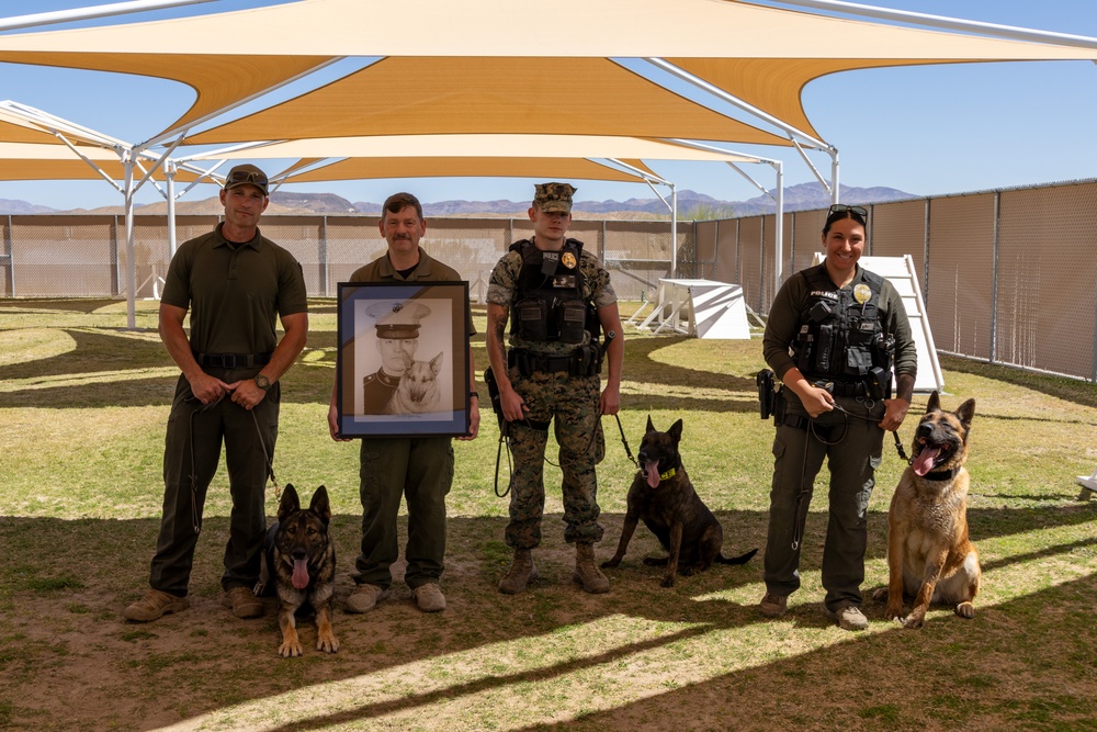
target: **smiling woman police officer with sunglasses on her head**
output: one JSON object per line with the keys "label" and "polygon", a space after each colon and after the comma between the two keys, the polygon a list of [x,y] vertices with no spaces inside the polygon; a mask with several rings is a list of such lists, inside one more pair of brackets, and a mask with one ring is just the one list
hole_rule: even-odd
{"label": "smiling woman police officer with sunglasses on her head", "polygon": [[[917,373],[903,301],[890,282],[857,263],[867,216],[860,206],[830,206],[823,227],[826,260],[781,286],[762,341],[766,362],[784,386],[777,397],[766,595],[759,610],[773,618],[784,615],[789,595],[800,587],[807,505],[826,457],[824,605],[846,630],[868,627],[860,585],[869,496],[884,430],[903,424]],[[892,368],[895,398],[890,398]]]}

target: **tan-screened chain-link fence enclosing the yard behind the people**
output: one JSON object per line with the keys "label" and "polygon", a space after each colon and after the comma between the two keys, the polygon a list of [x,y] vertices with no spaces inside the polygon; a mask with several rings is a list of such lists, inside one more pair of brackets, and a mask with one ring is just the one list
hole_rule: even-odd
{"label": "tan-screened chain-link fence enclosing the yard behind the people", "polygon": [[[784,215],[785,277],[819,251],[825,210]],[[179,216],[179,241],[215,216]],[[122,216],[0,217],[0,296],[126,295]],[[297,257],[310,295],[333,296],[384,250],[376,216],[268,215],[263,234]],[[769,312],[776,217],[679,222],[678,278],[743,285]],[[423,247],[483,302],[491,267],[532,234],[528,219],[429,218]],[[602,259],[622,300],[648,300],[671,269],[668,221],[574,221],[570,236]],[[871,206],[867,255],[911,255],[937,347],[950,353],[1097,381],[1097,181]],[[163,216],[135,217],[137,296],[155,297],[168,266]]]}

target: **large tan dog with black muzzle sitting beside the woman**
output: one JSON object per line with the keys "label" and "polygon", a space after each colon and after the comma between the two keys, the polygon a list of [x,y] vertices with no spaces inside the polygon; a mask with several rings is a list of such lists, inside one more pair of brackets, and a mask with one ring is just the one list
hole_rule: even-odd
{"label": "large tan dog with black muzzle sitting beside the woman", "polygon": [[[955,412],[929,397],[926,416],[914,435],[914,459],[900,478],[887,511],[887,587],[873,593],[886,600],[884,616],[906,628],[921,628],[930,603],[955,606],[961,618],[974,618],[972,600],[982,570],[968,539],[968,485],[971,476],[968,436],[975,399]],[[913,597],[903,617],[903,598]]]}

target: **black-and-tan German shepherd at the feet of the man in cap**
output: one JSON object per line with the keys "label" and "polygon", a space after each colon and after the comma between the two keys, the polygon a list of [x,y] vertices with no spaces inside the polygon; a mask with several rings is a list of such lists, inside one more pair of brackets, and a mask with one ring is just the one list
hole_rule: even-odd
{"label": "black-and-tan German shepherd at the feet of the man in cap", "polygon": [[297,492],[287,484],[278,507],[278,520],[267,530],[256,595],[273,590],[278,596],[278,624],[282,630],[278,652],[283,658],[302,654],[296,616],[302,609],[307,611],[306,603],[316,612],[316,650],[327,653],[339,650],[339,641],[331,632],[336,548],[328,538],[330,520],[327,488],[323,485],[316,488],[308,508],[302,508]]}

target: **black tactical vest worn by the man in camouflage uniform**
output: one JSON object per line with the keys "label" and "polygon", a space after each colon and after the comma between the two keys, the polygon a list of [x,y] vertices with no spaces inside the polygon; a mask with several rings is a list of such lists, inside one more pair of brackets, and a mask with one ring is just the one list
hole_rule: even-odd
{"label": "black tactical vest worn by the man in camouflage uniform", "polygon": [[511,334],[532,342],[581,344],[590,307],[583,299],[583,241],[565,239],[559,251],[542,251],[522,239],[510,250],[522,255]]}

